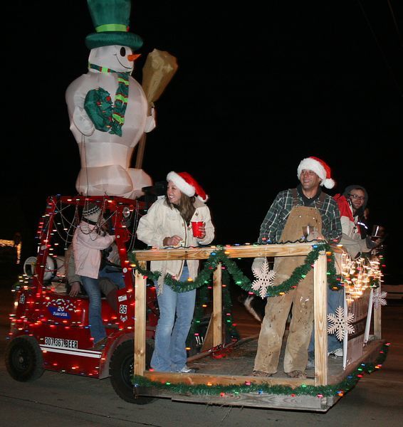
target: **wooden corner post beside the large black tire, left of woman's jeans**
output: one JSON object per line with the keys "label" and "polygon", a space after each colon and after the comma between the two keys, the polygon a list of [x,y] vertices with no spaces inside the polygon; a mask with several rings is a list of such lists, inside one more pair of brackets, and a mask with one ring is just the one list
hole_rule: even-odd
{"label": "wooden corner post beside the large black tire, left of woman's jeans", "polygon": [[[147,263],[140,261],[142,269]],[[143,375],[145,371],[145,327],[146,327],[146,292],[147,280],[136,271],[135,274],[135,375]]]}

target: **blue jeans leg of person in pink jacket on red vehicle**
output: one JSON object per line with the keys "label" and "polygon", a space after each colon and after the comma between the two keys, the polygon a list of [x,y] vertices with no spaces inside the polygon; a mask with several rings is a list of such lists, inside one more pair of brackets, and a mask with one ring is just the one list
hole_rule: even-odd
{"label": "blue jeans leg of person in pink jacket on red vehicle", "polygon": [[80,279],[90,299],[88,320],[90,322],[91,337],[93,337],[95,343],[106,337],[101,315],[102,302],[100,286],[98,284],[98,279],[88,278],[87,276],[80,276]]}

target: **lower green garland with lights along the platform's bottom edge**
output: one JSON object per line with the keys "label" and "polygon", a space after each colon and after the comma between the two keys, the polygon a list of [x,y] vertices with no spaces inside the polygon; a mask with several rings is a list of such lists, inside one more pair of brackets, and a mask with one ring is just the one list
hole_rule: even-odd
{"label": "lower green garland with lights along the platform's bottom edge", "polygon": [[[268,384],[255,384],[246,382],[243,385],[220,385],[208,386],[206,384],[171,384],[171,383],[159,383],[157,381],[150,381],[144,376],[135,375],[132,376],[132,383],[135,387],[154,387],[157,389],[169,390],[172,393],[179,394],[198,394],[205,396],[214,396],[217,394],[239,394],[239,393],[257,393],[257,394],[277,394],[284,396],[298,396],[298,395],[310,395],[310,396],[343,396],[350,391],[355,384],[362,378],[362,374],[371,374],[376,369],[382,366],[382,363],[387,357],[387,352],[390,343],[386,343],[380,350],[380,355],[377,357],[377,361],[370,363],[361,363],[357,366],[355,371],[350,375],[347,375],[343,381],[339,384],[328,385],[328,386],[307,386],[302,384],[301,386],[293,389],[291,386],[270,386]],[[141,394],[141,393],[140,393]]]}

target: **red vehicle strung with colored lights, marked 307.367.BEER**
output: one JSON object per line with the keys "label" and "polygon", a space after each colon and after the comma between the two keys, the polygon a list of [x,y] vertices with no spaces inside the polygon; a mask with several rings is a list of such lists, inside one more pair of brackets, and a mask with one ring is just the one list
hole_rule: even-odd
{"label": "red vehicle strung with colored lights, marked 307.367.BEER", "polygon": [[[102,317],[108,344],[92,349],[88,323],[88,297],[68,295],[63,258],[78,226],[83,207],[98,204],[115,233],[125,288],[117,290],[117,312],[102,301]],[[132,398],[130,375],[135,328],[134,275],[127,258],[134,246],[135,229],[145,214],[145,203],[117,196],[51,196],[38,225],[38,255],[25,265],[16,287],[14,312],[6,349],[6,367],[19,381],[31,381],[43,369],[93,376],[111,381],[123,399]],[[31,274],[29,270],[31,269]],[[67,266],[66,266],[67,271]],[[158,310],[155,288],[147,285],[147,338],[155,334]],[[150,348],[150,352],[152,349]],[[115,366],[113,360],[115,360]],[[125,365],[125,366],[123,366]],[[125,371],[122,371],[122,369]],[[123,378],[125,377],[125,378]],[[127,395],[119,388],[126,382]]]}

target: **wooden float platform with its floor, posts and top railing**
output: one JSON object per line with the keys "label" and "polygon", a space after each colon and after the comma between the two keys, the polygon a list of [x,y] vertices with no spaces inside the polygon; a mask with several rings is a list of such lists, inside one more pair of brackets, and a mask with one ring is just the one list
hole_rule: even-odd
{"label": "wooden float platform with its floor, posts and top railing", "polygon": [[[290,243],[284,245],[263,246],[226,246],[228,258],[252,258],[262,256],[308,255],[312,246],[307,243]],[[145,269],[150,260],[174,259],[206,259],[216,248],[184,248],[169,250],[136,251],[140,268]],[[338,248],[334,248],[338,251]],[[135,266],[135,265],[133,265]],[[210,348],[188,359],[188,366],[197,369],[194,373],[164,373],[150,371],[145,368],[145,288],[146,278],[137,270],[135,272],[135,364],[134,394],[138,403],[142,399],[152,397],[172,399],[172,401],[188,401],[200,404],[219,406],[252,406],[259,408],[277,408],[298,411],[328,411],[340,399],[340,395],[325,396],[315,394],[313,387],[338,386],[347,376],[354,372],[360,364],[375,362],[384,345],[380,334],[380,310],[374,312],[374,335],[362,347],[360,356],[353,362],[342,366],[342,359],[327,356],[327,259],[325,251],[318,253],[313,263],[314,270],[314,322],[315,322],[315,368],[308,369],[308,378],[290,378],[283,372],[283,352],[287,333],[284,334],[282,352],[278,363],[278,372],[271,377],[252,375],[256,357],[258,335],[244,337],[236,343],[222,345],[224,342],[222,295],[221,295],[221,263],[213,273],[213,302],[209,325],[211,335]],[[287,332],[287,331],[286,331]],[[204,341],[206,343],[206,339]],[[221,346],[221,347],[220,347]],[[216,349],[221,350],[221,355]],[[138,379],[136,383],[136,378]],[[262,389],[259,385],[262,384]],[[214,386],[215,394],[206,392],[206,387]],[[217,389],[225,391],[217,394]],[[248,387],[251,386],[250,391]],[[276,386],[280,386],[277,389]],[[310,393],[302,392],[301,387],[310,387]],[[239,391],[236,391],[238,387]],[[273,387],[273,391],[271,388]],[[281,393],[285,387],[285,394]],[[295,394],[289,392],[295,389]],[[298,391],[299,388],[299,391]],[[182,390],[182,391],[181,391]],[[199,391],[198,391],[199,390]],[[274,394],[276,391],[276,394]],[[305,390],[303,390],[305,391]],[[307,389],[308,391],[308,389]],[[332,391],[333,393],[333,391]],[[135,399],[136,400],[136,399]],[[146,402],[144,402],[146,403]]]}

